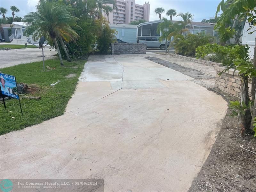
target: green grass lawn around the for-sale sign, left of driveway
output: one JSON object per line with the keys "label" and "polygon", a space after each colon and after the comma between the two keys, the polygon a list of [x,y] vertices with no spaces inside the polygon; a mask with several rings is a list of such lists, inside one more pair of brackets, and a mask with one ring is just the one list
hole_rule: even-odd
{"label": "green grass lawn around the for-sale sign, left of driveway", "polygon": [[[42,62],[33,62],[0,69],[2,73],[16,76],[17,83],[22,82],[28,84],[30,87],[37,87],[33,93],[20,96],[41,97],[40,100],[20,100],[23,116],[20,113],[19,100],[6,100],[6,109],[4,109],[3,102],[0,101],[0,135],[62,115],[68,100],[76,89],[76,84],[83,70],[84,63],[85,61],[83,60],[64,61],[64,67],[60,67],[60,60],[52,59],[46,60],[45,66],[55,67],[56,69],[53,70],[46,69],[43,71]],[[69,74],[75,74],[76,76],[66,78]],[[50,86],[50,84],[58,80],[60,80],[59,84]]]}

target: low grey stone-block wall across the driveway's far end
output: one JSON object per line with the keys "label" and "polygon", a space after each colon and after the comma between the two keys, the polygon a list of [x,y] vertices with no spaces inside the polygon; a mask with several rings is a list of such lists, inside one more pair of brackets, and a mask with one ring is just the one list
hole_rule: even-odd
{"label": "low grey stone-block wall across the driveway's far end", "polygon": [[137,43],[112,43],[112,55],[114,54],[146,54],[147,45]]}

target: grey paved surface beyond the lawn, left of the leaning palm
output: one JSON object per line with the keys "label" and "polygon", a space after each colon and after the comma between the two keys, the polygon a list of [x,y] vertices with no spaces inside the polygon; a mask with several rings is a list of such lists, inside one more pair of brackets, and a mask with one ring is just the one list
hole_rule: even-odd
{"label": "grey paved surface beyond the lawn, left of the leaning palm", "polygon": [[[49,47],[44,49],[44,59],[52,59],[56,54],[54,50],[50,51]],[[22,63],[42,61],[42,49],[9,49],[0,51],[0,68],[11,67]]]}

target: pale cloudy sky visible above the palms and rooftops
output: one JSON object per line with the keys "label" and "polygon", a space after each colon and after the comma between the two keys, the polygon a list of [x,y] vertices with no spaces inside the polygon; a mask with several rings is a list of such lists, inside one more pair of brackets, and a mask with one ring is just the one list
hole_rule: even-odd
{"label": "pale cloudy sky visible above the palms and rooftops", "polygon": [[[149,20],[158,20],[159,17],[154,13],[157,7],[163,7],[165,11],[175,9],[177,13],[189,12],[194,15],[194,21],[202,21],[215,16],[218,4],[221,0],[135,0],[135,4],[143,5],[145,2],[150,4]],[[8,9],[7,17],[12,17],[10,6],[15,5],[20,12],[15,13],[16,16],[23,17],[28,12],[35,11],[38,0],[0,0],[0,7]],[[166,17],[162,14],[162,17]],[[181,20],[180,17],[173,17],[172,20]]]}

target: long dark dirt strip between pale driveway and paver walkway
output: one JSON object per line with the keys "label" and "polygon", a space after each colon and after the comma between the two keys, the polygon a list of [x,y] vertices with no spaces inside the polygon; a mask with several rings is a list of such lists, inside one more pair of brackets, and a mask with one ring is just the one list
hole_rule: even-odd
{"label": "long dark dirt strip between pale driveway and paver walkway", "polygon": [[148,59],[150,61],[163,65],[165,67],[171,68],[175,71],[179,71],[180,73],[193,77],[194,79],[215,79],[215,77],[204,74],[201,71],[191,69],[191,68],[186,68],[186,67],[183,67],[175,63],[171,63],[169,61],[162,60],[156,57],[145,57],[145,59]]}

